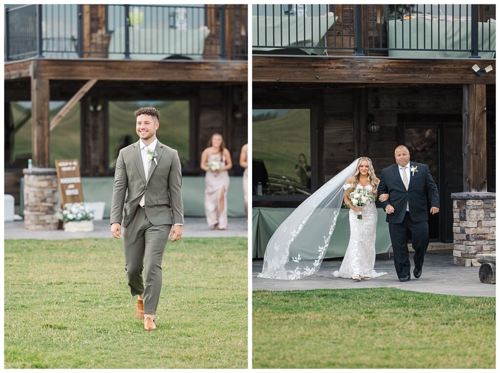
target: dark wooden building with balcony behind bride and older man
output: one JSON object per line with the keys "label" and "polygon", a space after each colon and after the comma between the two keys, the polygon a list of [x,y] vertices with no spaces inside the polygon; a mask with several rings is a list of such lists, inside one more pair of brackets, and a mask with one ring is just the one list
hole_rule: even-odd
{"label": "dark wooden building with balcony behind bride and older man", "polygon": [[[255,133],[255,112],[307,110],[300,136],[309,139],[310,190],[288,186],[289,193],[256,195],[254,188],[253,207],[296,207],[359,156],[371,158],[380,175],[394,163],[394,148],[405,144],[411,160],[429,165],[439,188],[441,210],[429,216],[430,239],[453,242],[451,193],[495,191],[495,5],[323,4],[298,15],[300,5],[289,6],[252,9],[252,154],[266,157],[258,155],[265,139]],[[430,32],[432,26],[444,38],[438,46],[439,35],[427,34],[423,46],[415,27]],[[468,34],[450,41],[444,27],[468,27]],[[290,154],[294,163],[300,152]],[[259,162],[255,180],[265,179],[255,175]]]}

